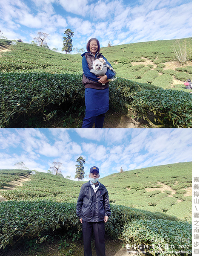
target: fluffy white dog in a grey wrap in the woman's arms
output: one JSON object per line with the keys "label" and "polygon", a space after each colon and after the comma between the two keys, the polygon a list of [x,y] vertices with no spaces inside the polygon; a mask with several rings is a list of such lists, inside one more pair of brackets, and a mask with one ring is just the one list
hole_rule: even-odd
{"label": "fluffy white dog in a grey wrap in the woman's arms", "polygon": [[[90,72],[96,76],[104,76],[108,68],[111,69],[116,74],[114,69],[108,64],[106,64],[106,61],[103,58],[98,58],[95,61],[93,61],[92,69],[90,70]],[[117,79],[117,77],[115,78],[114,76],[113,78],[109,79],[109,81],[114,81],[115,79]],[[105,84],[102,84],[102,85],[105,85]]]}

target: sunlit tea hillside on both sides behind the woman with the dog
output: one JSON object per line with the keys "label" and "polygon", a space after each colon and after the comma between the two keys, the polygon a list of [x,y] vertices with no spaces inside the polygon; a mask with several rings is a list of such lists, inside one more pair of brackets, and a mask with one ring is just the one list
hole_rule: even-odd
{"label": "sunlit tea hillside on both sides behind the woman with the dog", "polygon": [[[163,88],[185,90],[183,81],[191,79],[191,38],[186,41],[188,61],[183,66],[176,60],[173,46],[177,40],[150,41],[103,47],[117,76]],[[5,48],[0,40],[0,51]],[[82,57],[62,54],[32,44],[9,45],[9,52],[1,53],[0,71],[32,71],[47,73],[82,73]],[[162,82],[161,82],[162,81]]]}

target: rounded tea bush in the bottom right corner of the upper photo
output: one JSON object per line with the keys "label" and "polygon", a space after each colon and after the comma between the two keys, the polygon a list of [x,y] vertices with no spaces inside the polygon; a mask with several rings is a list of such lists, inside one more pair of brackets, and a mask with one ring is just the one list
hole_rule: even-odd
{"label": "rounded tea bush in the bottom right corner of the upper photo", "polygon": [[[163,75],[164,76],[164,75]],[[176,128],[189,128],[192,125],[190,93],[175,90],[143,90],[137,92],[132,98],[131,108],[137,112],[138,117],[149,119],[149,113],[153,113],[154,120],[158,125]]]}

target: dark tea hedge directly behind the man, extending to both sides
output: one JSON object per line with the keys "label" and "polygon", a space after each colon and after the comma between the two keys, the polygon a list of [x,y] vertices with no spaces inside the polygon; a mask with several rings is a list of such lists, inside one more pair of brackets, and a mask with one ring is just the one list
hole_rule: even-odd
{"label": "dark tea hedge directly behind the man, extending to both sides", "polygon": [[[119,238],[125,224],[133,220],[151,218],[176,219],[161,213],[111,205],[111,217],[106,224],[106,233],[112,238]],[[54,231],[64,232],[66,239],[69,239],[76,237],[81,229],[75,203],[58,203],[50,200],[5,201],[1,203],[0,248],[29,239],[37,239],[37,242],[40,243],[48,236],[53,236]]]}

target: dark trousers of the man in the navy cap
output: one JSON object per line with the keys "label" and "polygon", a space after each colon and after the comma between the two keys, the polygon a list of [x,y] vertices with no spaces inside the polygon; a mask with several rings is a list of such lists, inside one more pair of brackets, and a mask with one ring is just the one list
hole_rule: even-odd
{"label": "dark trousers of the man in the navy cap", "polygon": [[92,230],[95,237],[95,250],[97,256],[106,256],[105,253],[105,224],[104,221],[87,222],[83,221],[83,244],[84,256],[92,256],[91,254],[91,236]]}

